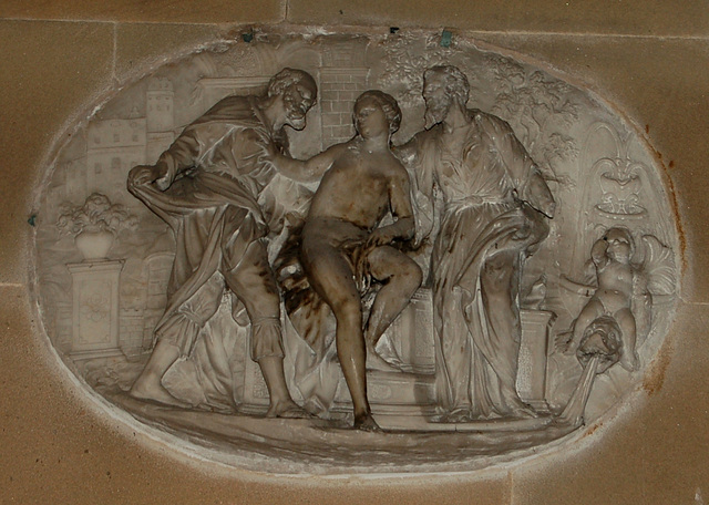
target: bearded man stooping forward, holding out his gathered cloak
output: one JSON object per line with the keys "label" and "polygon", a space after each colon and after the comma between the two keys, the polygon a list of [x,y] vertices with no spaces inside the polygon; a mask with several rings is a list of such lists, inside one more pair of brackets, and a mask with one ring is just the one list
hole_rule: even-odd
{"label": "bearded man stooping forward, holding out his gathered cloak", "polygon": [[[155,165],[131,171],[129,190],[172,227],[177,243],[167,308],[132,396],[191,406],[161,381],[178,358],[189,355],[228,287],[236,299],[234,318],[251,326],[251,359],[270,396],[267,415],[308,416],[284,377],[280,296],[264,239],[267,219],[257,200],[276,175],[264,154],[287,151],[285,126],[305,127],[316,94],[308,73],[284,69],[265,96],[227,96],[188,125]],[[248,321],[240,317],[244,308]]]}

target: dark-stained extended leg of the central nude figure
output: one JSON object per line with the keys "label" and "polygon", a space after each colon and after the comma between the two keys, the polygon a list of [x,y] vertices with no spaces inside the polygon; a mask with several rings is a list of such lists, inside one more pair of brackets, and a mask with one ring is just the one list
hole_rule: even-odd
{"label": "dark-stained extended leg of the central nude figure", "polygon": [[352,396],[354,427],[374,430],[367,400],[366,349],[362,307],[353,272],[342,254],[325,240],[304,237],[304,267],[315,290],[330,306],[337,320],[337,355]]}

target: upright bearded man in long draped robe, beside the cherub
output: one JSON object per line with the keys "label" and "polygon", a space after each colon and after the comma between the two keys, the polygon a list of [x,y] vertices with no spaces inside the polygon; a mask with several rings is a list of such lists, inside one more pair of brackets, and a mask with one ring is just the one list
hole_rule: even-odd
{"label": "upright bearded man in long draped robe, beside the cherub", "polygon": [[[442,421],[534,415],[516,392],[522,259],[548,234],[554,198],[507,123],[466,107],[455,66],[424,73],[427,128],[398,150],[418,190],[443,200],[431,257]],[[420,238],[419,238],[420,239]]]}

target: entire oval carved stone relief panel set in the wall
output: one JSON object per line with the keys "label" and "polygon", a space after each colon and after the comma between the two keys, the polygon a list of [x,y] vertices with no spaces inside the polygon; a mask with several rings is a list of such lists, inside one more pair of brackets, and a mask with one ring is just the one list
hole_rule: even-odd
{"label": "entire oval carved stone relief panel set in the wall", "polygon": [[68,138],[38,213],[47,334],[107,411],[201,458],[512,461],[631,402],[671,322],[641,136],[446,32],[250,32]]}

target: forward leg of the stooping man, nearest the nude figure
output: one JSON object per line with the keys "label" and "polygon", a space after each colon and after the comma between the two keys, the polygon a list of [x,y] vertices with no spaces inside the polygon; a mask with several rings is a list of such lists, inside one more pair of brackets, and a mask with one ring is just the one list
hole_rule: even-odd
{"label": "forward leg of the stooping man, nearest the nude figure", "polygon": [[270,337],[251,334],[251,344],[258,347],[258,338],[273,338],[273,342],[265,343],[267,354],[253,355],[264,374],[270,406],[266,413],[269,418],[310,418],[305,410],[296,404],[290,396],[284,373],[284,357],[280,344],[280,297],[273,271],[268,265],[266,247],[256,241],[249,245],[237,267],[225,272],[227,286],[244,303],[251,321],[251,331],[259,321],[268,321],[276,327]]}

